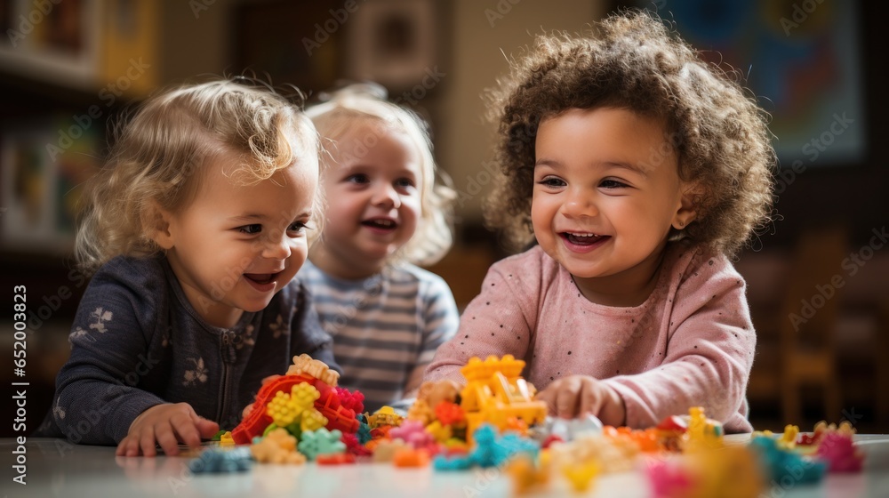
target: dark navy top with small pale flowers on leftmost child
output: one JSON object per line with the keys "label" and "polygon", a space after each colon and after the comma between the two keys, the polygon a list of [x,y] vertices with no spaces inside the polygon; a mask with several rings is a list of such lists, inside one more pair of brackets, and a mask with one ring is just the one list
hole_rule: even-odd
{"label": "dark navy top with small pale flowers on leftmost child", "polygon": [[71,327],[71,356],[36,436],[116,445],[151,406],[185,402],[231,430],[264,377],[307,353],[333,362],[330,337],[298,279],[237,325],[207,324],[163,256],[114,258],[92,277]]}

